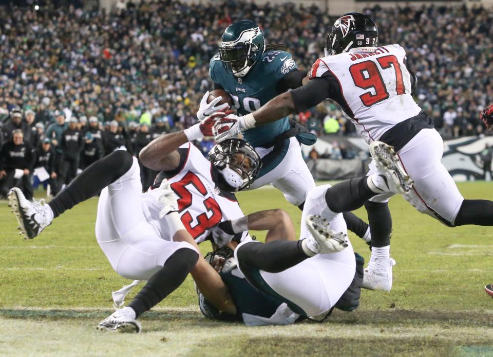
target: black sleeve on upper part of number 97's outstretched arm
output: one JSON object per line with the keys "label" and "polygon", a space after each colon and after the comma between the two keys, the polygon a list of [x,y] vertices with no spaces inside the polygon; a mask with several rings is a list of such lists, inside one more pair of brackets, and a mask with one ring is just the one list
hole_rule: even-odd
{"label": "black sleeve on upper part of number 97's outstretched arm", "polygon": [[296,107],[296,111],[299,113],[312,108],[329,97],[332,97],[333,92],[334,88],[331,81],[322,77],[313,78],[304,86],[296,88],[289,93],[291,93],[294,106]]}

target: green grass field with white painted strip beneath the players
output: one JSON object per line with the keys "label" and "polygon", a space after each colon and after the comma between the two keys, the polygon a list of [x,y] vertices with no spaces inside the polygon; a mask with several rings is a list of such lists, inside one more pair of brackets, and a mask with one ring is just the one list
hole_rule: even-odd
{"label": "green grass field with white painted strip beneath the players", "polygon": [[[459,184],[471,199],[493,200],[492,186]],[[283,208],[299,229],[299,210],[275,189],[238,199],[245,213]],[[483,289],[493,282],[492,228],[448,228],[395,197],[392,291],[363,290],[355,312],[287,327],[212,322],[200,315],[187,278],[142,316],[142,334],[125,335],[96,330],[112,312],[111,291],[128,283],[96,243],[96,206],[96,198],[84,202],[26,241],[0,202],[0,355],[493,355],[493,301]],[[364,209],[356,213],[366,220]],[[351,241],[368,259],[366,244]]]}

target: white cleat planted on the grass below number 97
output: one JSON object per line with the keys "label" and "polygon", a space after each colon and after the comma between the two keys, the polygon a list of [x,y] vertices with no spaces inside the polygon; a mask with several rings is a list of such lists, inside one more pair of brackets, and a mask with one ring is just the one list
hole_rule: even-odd
{"label": "white cleat planted on the grass below number 97", "polygon": [[390,291],[392,289],[392,258],[370,260],[364,270],[362,288],[368,290]]}

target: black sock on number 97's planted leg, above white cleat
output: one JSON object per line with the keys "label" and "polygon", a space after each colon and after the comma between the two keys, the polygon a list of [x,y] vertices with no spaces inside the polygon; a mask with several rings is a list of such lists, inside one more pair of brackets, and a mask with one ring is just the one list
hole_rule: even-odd
{"label": "black sock on number 97's planted leg, above white cleat", "polygon": [[392,217],[388,203],[368,201],[365,203],[370,223],[371,246],[385,247],[390,245],[392,235]]}

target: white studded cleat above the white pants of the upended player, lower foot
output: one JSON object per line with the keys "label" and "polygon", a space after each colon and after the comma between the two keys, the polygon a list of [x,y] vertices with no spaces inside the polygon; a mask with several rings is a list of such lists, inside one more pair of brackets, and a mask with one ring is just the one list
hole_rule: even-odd
{"label": "white studded cleat above the white pants of the upended player, lower foot", "polygon": [[306,225],[311,236],[307,238],[307,247],[315,254],[340,252],[348,246],[348,235],[329,228],[325,218],[310,215]]}

